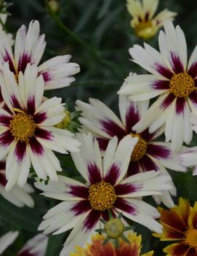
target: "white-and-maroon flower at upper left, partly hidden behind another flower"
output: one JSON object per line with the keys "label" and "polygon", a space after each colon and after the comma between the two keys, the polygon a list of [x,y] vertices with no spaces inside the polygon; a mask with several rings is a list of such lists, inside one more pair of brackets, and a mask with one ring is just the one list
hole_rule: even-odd
{"label": "white-and-maroon flower at upper left, partly hidden behind another flower", "polygon": [[21,26],[17,31],[13,53],[9,40],[0,28],[1,65],[8,61],[9,69],[15,74],[16,80],[20,71],[25,72],[28,63],[39,66],[38,75],[42,74],[44,77],[45,90],[70,85],[75,80],[71,76],[80,71],[78,64],[69,63],[71,55],[56,56],[39,65],[46,47],[44,36],[40,35],[38,20],[31,21],[28,31],[24,25]]}

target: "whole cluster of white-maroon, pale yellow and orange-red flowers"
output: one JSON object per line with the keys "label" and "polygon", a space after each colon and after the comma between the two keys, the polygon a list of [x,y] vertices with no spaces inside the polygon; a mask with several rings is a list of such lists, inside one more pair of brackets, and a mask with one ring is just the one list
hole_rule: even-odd
{"label": "whole cluster of white-maroon, pale yellow and orange-red flowers", "polygon": [[[141,236],[128,231],[125,218],[145,225],[161,240],[177,241],[164,250],[169,255],[197,254],[197,204],[192,208],[180,198],[180,205],[174,206],[176,187],[166,170],[187,171],[197,165],[196,147],[182,146],[193,139],[193,130],[197,132],[197,48],[188,61],[182,29],[166,20],[174,12],[164,10],[153,18],[157,4],[128,1],[138,36],[153,36],[165,20],[158,36],[160,52],[146,43],[129,49],[132,61],[150,74],[130,73],[125,79],[118,90],[120,118],[95,98],[89,104],[76,101],[83,125],[78,134],[60,128],[68,118],[62,99],[46,98],[44,90],[70,85],[79,65],[69,62],[70,55],[39,65],[46,42],[38,21],[32,21],[28,30],[22,26],[17,31],[14,53],[12,42],[0,29],[0,193],[17,206],[33,207],[29,195],[33,187],[27,184],[33,167],[35,187],[42,195],[62,201],[44,215],[39,230],[59,234],[73,228],[61,256],[140,255]],[[165,141],[157,141],[163,133]],[[84,183],[57,175],[62,168],[53,151],[71,152]],[[142,201],[146,195],[171,209],[150,206]],[[160,215],[161,223],[156,221]],[[117,235],[116,226],[121,230]],[[105,234],[95,235],[95,230]],[[8,233],[1,238],[0,254],[16,236]],[[82,248],[91,238],[92,245]],[[110,238],[118,239],[118,246]],[[39,240],[44,241],[42,246]],[[28,252],[32,247],[34,254]],[[47,237],[38,235],[18,255],[24,250],[44,255],[46,247]],[[144,256],[150,255],[153,252]]]}

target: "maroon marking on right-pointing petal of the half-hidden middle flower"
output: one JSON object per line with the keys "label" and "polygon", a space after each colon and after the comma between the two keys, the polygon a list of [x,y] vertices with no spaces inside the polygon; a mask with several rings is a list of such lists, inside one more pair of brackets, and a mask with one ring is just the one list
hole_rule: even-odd
{"label": "maroon marking on right-pointing petal of the half-hidden middle flower", "polygon": [[148,155],[152,155],[155,158],[169,158],[170,156],[170,150],[167,147],[161,146],[161,145],[155,145],[155,144],[147,144],[147,150]]}

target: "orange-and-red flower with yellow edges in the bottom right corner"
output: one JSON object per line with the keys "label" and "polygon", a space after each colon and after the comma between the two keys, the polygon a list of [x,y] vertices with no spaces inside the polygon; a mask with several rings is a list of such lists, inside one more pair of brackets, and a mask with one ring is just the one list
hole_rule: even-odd
{"label": "orange-and-red flower with yellow edges in the bottom right corner", "polygon": [[169,211],[158,209],[161,213],[160,221],[164,226],[162,234],[154,236],[161,241],[171,241],[172,244],[164,248],[167,256],[196,256],[197,255],[197,202],[194,206],[183,198],[179,205]]}

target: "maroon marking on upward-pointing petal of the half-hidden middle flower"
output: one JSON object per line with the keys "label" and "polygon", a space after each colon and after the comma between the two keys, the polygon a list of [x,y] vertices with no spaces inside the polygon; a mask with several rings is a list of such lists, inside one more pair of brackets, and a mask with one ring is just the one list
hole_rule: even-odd
{"label": "maroon marking on upward-pointing petal of the half-hidden middle flower", "polygon": [[139,109],[135,108],[131,103],[129,104],[128,109],[126,110],[126,131],[127,133],[132,132],[132,126],[140,121]]}

